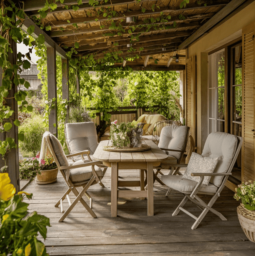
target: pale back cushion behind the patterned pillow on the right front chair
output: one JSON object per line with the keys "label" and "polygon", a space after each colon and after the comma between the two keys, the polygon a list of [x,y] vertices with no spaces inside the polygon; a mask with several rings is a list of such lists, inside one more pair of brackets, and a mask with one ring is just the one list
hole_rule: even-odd
{"label": "pale back cushion behind the patterned pillow on the right front chair", "polygon": [[[236,146],[237,138],[234,135],[225,132],[213,132],[206,139],[202,156],[219,158],[214,173],[227,172]],[[212,177],[210,183],[219,187],[223,178],[224,176]]]}

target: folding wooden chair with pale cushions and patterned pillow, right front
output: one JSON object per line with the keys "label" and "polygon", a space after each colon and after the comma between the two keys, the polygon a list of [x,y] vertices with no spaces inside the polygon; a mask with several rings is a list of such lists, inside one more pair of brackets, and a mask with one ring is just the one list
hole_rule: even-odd
{"label": "folding wooden chair with pale cushions and patterned pillow, right front", "polygon": [[[192,225],[191,229],[196,229],[199,223],[202,221],[208,211],[215,213],[222,220],[227,220],[221,213],[212,208],[213,204],[220,196],[225,182],[237,159],[239,151],[242,147],[243,138],[234,136],[232,134],[224,132],[214,132],[209,134],[206,139],[202,155],[196,156],[196,153],[192,153],[188,164],[183,164],[183,167],[187,167],[183,176],[179,175],[162,175],[162,181],[171,189],[182,192],[185,197],[178,205],[172,216],[177,215],[180,211],[188,214],[196,221]],[[198,157],[200,160],[198,161]],[[202,160],[201,160],[202,157]],[[204,157],[204,158],[203,158]],[[207,159],[206,159],[207,158]],[[208,168],[207,163],[210,159],[217,159],[218,162],[213,172],[205,172]],[[194,170],[193,170],[194,169]],[[204,170],[204,172],[203,172]],[[192,173],[190,173],[192,171]],[[197,172],[199,171],[199,172]],[[205,177],[211,177],[208,179],[208,184],[203,184]],[[200,177],[195,178],[195,177]],[[195,180],[196,181],[195,181]],[[212,195],[213,197],[208,204],[202,201],[198,196],[199,194]],[[188,212],[183,208],[184,204],[188,201],[195,203],[202,213],[199,217]]]}

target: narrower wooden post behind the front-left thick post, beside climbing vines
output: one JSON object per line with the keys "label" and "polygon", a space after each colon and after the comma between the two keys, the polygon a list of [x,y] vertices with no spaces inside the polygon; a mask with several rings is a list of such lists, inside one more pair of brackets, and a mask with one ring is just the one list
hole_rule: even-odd
{"label": "narrower wooden post behind the front-left thick post, beside climbing vines", "polygon": [[[69,101],[69,61],[67,59],[62,60],[62,99],[67,99]],[[69,105],[67,108],[65,124],[69,120]]]}

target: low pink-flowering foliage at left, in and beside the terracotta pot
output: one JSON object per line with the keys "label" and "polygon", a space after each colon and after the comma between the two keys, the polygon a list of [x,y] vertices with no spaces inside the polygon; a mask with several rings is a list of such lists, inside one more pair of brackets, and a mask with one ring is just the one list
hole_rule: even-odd
{"label": "low pink-flowering foliage at left, in and beside the terracotta pot", "polygon": [[52,157],[47,159],[41,159],[39,163],[40,155],[37,154],[36,157],[23,159],[19,161],[20,166],[20,179],[35,178],[37,174],[41,174],[40,171],[52,170],[57,167],[56,162]]}

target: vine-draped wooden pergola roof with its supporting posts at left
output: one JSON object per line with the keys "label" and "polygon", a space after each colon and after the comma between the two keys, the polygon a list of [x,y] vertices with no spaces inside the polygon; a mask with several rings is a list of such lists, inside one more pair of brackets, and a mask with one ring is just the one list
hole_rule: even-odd
{"label": "vine-draped wooden pergola roof with its supporting posts at left", "polygon": [[[185,60],[189,53],[186,47],[215,27],[224,23],[235,13],[245,8],[251,0],[205,1],[199,5],[190,0],[185,8],[180,8],[182,0],[111,0],[91,6],[88,0],[65,0],[56,3],[56,9],[46,12],[41,19],[42,30],[33,21],[38,11],[45,5],[44,0],[24,0],[26,18],[24,31],[35,26],[33,37],[44,35],[47,47],[48,96],[56,97],[56,54],[62,58],[62,97],[69,99],[68,69],[66,52],[77,46],[76,56],[93,55],[95,60],[107,53],[118,52],[122,62],[113,67],[132,67],[133,70],[185,70]],[[79,8],[78,8],[79,7]],[[106,13],[106,15],[104,14]],[[169,16],[171,18],[169,18]],[[118,27],[119,26],[119,27]],[[121,33],[120,33],[121,29]],[[132,39],[133,38],[133,39]],[[132,45],[132,51],[130,46]],[[12,45],[16,53],[15,43]],[[14,54],[15,55],[15,54]],[[137,57],[134,60],[131,58]],[[176,58],[177,57],[177,58]],[[15,56],[13,63],[15,62]],[[177,60],[178,59],[178,62]],[[185,76],[184,76],[185,77]],[[17,88],[14,89],[17,90]],[[79,86],[77,86],[79,92]],[[13,109],[17,113],[17,104]],[[49,130],[57,133],[56,106],[49,115]],[[17,139],[17,128],[11,130]],[[15,159],[15,161],[13,161]],[[2,163],[1,163],[2,165]],[[12,149],[8,163],[11,182],[19,190],[18,150]]]}

